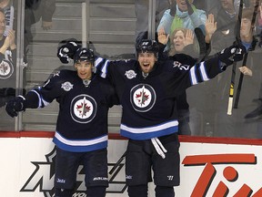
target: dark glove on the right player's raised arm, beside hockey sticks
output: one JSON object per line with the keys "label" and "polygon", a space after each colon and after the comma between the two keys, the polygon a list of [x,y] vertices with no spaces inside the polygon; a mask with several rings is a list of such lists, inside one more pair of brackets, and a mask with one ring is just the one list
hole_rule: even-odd
{"label": "dark glove on the right player's raised arm, beside hockey sticks", "polygon": [[241,61],[246,53],[246,47],[242,45],[232,45],[223,49],[218,54],[218,58],[221,62],[225,63],[226,66],[229,66],[232,65],[234,61]]}

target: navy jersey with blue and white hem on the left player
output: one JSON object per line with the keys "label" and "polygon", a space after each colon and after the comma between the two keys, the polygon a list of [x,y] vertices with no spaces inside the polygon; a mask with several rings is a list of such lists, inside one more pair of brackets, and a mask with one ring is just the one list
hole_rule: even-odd
{"label": "navy jersey with blue and white hem on the left player", "polygon": [[26,108],[44,108],[54,99],[59,103],[54,142],[62,150],[86,152],[107,147],[107,112],[117,104],[114,88],[96,75],[86,85],[84,82],[76,71],[61,70],[25,96]]}

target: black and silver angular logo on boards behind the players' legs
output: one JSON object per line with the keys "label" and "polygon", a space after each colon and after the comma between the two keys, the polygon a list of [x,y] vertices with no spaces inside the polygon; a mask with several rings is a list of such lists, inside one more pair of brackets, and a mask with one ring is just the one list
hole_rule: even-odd
{"label": "black and silver angular logo on boards behind the players' legs", "polygon": [[[46,161],[31,161],[35,165],[35,171],[25,181],[20,192],[43,192],[45,197],[55,196],[55,149],[45,155]],[[124,163],[108,163],[108,169],[113,169],[108,176],[109,187],[107,193],[123,193],[126,191],[125,176],[120,176],[124,171]],[[76,192],[73,197],[86,197],[85,171],[80,165],[76,172]],[[122,180],[120,178],[122,178]],[[120,179],[120,180],[119,180]]]}

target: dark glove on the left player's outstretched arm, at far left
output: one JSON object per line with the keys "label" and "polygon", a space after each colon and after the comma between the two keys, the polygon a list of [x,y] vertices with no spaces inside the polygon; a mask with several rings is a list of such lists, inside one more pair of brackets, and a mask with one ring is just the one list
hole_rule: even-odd
{"label": "dark glove on the left player's outstretched arm, at far left", "polygon": [[15,97],[7,102],[5,111],[12,118],[18,115],[18,111],[25,111],[25,98],[23,96]]}

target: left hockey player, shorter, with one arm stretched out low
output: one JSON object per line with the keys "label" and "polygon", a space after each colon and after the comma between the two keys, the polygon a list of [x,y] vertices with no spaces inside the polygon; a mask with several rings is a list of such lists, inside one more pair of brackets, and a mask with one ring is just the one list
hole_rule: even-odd
{"label": "left hockey player, shorter, with one arm stretched out low", "polygon": [[59,114],[53,140],[56,146],[55,196],[73,195],[81,162],[86,173],[86,195],[105,197],[107,112],[118,101],[110,83],[93,72],[92,50],[78,48],[74,62],[76,70],[58,71],[42,87],[9,101],[6,112],[15,117],[18,111],[44,108],[56,99]]}

